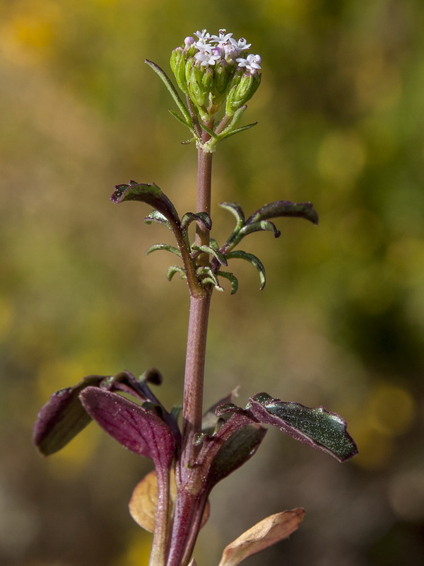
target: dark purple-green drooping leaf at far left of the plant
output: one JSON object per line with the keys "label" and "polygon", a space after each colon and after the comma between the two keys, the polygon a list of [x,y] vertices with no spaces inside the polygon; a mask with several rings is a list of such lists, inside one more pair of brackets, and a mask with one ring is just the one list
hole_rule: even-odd
{"label": "dark purple-green drooping leaf at far left of the plant", "polygon": [[54,454],[76,437],[91,421],[78,398],[84,388],[99,385],[107,376],[87,376],[76,386],[53,393],[42,406],[34,425],[33,441],[44,456]]}

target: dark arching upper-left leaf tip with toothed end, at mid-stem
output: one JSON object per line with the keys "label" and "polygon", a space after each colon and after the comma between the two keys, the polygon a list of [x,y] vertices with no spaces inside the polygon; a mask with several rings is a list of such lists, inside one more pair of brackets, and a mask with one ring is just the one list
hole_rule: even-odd
{"label": "dark arching upper-left leaf tip with toothed end, at mid-stem", "polygon": [[174,205],[155,183],[130,181],[128,185],[115,185],[110,200],[115,204],[126,200],[145,202],[163,214],[172,225],[179,226],[179,217]]}

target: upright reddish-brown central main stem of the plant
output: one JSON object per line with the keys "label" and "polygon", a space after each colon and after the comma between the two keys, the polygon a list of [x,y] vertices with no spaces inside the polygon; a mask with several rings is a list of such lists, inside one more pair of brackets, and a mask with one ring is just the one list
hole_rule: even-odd
{"label": "upright reddish-brown central main stem of the plant", "polygon": [[[207,124],[213,127],[213,122]],[[202,132],[202,144],[210,139]],[[212,155],[199,146],[196,212],[211,212]],[[196,224],[196,246],[208,246],[209,231]],[[209,265],[209,256],[202,253],[198,264]],[[189,328],[187,336],[186,365],[184,374],[184,398],[182,404],[182,454],[177,470],[177,501],[175,502],[170,548],[167,566],[185,566],[192,555],[200,529],[201,515],[207,495],[202,489],[202,478],[194,468],[199,446],[194,444],[196,434],[201,432],[203,415],[204,370],[206,358],[206,335],[208,332],[209,307],[212,296],[211,285],[193,292],[190,288]]]}

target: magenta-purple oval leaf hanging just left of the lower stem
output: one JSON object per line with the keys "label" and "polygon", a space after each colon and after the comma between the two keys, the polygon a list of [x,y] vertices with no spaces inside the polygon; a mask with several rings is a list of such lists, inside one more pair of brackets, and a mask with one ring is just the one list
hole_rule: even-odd
{"label": "magenta-purple oval leaf hanging just left of the lower stem", "polygon": [[126,449],[151,458],[156,469],[170,468],[175,439],[153,403],[136,405],[118,393],[87,387],[80,393],[88,414]]}

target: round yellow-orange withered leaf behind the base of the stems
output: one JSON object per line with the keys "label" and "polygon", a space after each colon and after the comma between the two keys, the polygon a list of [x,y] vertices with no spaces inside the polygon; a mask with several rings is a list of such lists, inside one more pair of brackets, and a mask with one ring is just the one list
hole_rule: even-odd
{"label": "round yellow-orange withered leaf behind the base of the stems", "polygon": [[[177,485],[175,484],[175,473],[170,473],[170,516],[172,516],[175,499],[177,498]],[[136,523],[149,533],[155,530],[156,509],[158,507],[158,477],[155,470],[149,472],[139,482],[132,492],[129,500],[129,513]],[[206,503],[204,514],[201,519],[203,527],[209,518],[210,504]]]}

